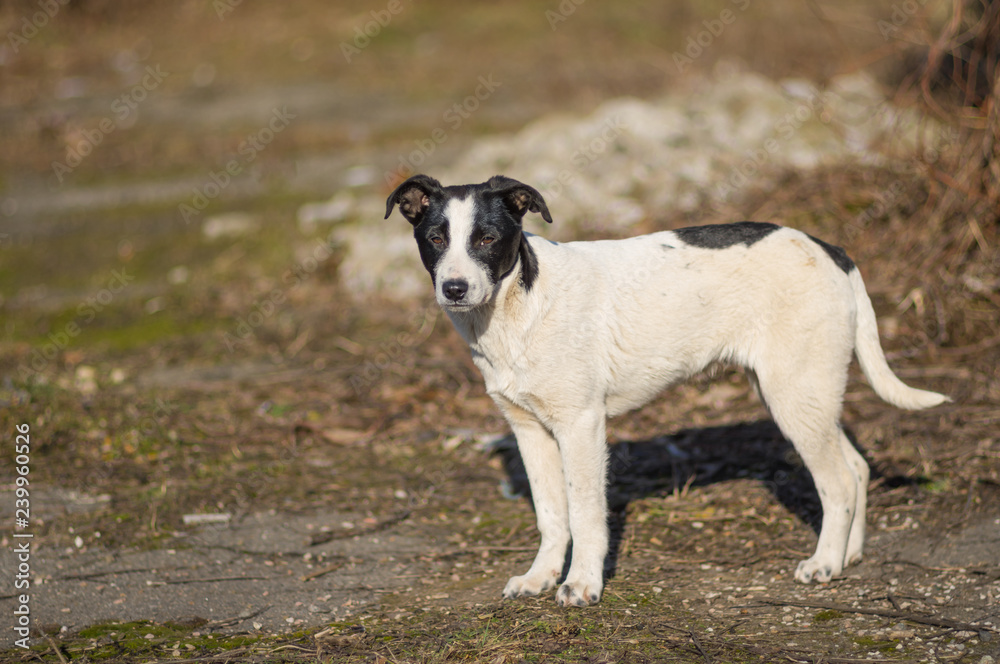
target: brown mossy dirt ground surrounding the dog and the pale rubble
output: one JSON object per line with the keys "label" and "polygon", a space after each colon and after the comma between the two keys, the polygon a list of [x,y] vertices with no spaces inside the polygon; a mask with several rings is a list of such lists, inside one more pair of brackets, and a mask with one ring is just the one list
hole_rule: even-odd
{"label": "brown mossy dirt ground surrounding the dog and the pale rubble", "polygon": [[[488,72],[495,103],[428,169],[726,58],[818,82],[864,67],[893,89],[948,10],[897,4],[91,0],[42,24],[38,3],[0,3],[0,660],[1000,660],[1000,238],[941,213],[954,164],[789,172],[644,222],[779,221],[845,247],[897,373],[953,402],[899,411],[853,370],[867,549],[812,586],[792,573],[818,496],[739,371],[616,418],[608,580],[584,610],[500,599],[537,546],[527,482],[429,288],[345,292],[341,249],[311,260],[318,233],[295,218],[353,166],[393,168]],[[742,13],[681,71],[673,54],[725,10]],[[284,105],[296,121],[185,218]]]}

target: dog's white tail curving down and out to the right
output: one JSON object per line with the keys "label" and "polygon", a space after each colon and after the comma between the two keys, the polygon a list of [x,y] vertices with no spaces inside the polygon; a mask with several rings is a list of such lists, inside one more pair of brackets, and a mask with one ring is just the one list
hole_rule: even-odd
{"label": "dog's white tail curving down and out to the right", "polygon": [[882,352],[882,344],[878,340],[878,324],[875,321],[875,310],[872,301],[865,290],[865,282],[861,272],[855,267],[848,275],[851,287],[854,289],[854,301],[857,305],[857,323],[854,331],[854,353],[858,356],[861,370],[865,372],[868,382],[875,393],[882,399],[899,408],[920,410],[937,406],[948,397],[937,392],[918,390],[905,384],[892,373]]}

